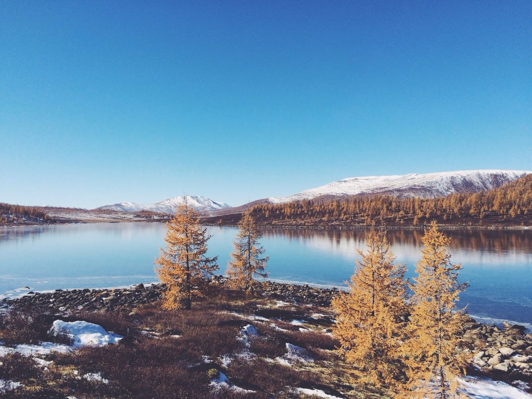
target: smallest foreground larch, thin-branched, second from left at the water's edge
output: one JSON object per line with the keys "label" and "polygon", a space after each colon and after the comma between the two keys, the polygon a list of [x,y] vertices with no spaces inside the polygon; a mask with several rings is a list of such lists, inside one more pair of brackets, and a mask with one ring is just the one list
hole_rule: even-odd
{"label": "smallest foreground larch, thin-branched, second from left at the water's edge", "polygon": [[238,222],[238,235],[233,243],[235,250],[231,253],[227,274],[229,286],[232,288],[249,289],[254,294],[254,277],[268,277],[265,271],[268,256],[259,240],[261,231],[257,228],[249,212],[244,213]]}

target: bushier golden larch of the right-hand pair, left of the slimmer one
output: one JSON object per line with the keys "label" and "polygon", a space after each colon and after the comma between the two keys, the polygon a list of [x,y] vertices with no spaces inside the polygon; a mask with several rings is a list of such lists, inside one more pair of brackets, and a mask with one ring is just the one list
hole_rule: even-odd
{"label": "bushier golden larch of the right-hand pair, left of the slimmer one", "polygon": [[406,267],[394,263],[385,231],[371,230],[366,245],[366,252],[358,250],[362,259],[347,283],[350,290],[332,301],[333,334],[359,381],[400,391],[400,346],[408,312]]}

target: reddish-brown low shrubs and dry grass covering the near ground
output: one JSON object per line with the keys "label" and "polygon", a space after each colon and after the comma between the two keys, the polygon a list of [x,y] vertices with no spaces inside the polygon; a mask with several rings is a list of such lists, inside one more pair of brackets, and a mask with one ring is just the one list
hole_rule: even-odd
{"label": "reddish-brown low shrubs and dry grass covering the near ground", "polygon": [[[275,307],[269,302],[260,296],[218,292],[208,301],[194,303],[190,311],[166,311],[160,303],[153,303],[131,315],[72,314],[65,320],[97,323],[126,338],[117,345],[48,355],[47,360],[53,361],[48,370],[31,365],[31,359],[18,359],[17,367],[3,372],[6,379],[23,381],[26,387],[10,392],[10,397],[292,398],[297,397],[293,390],[296,387],[317,387],[342,396],[338,390],[345,392],[347,377],[345,372],[335,370],[337,355],[330,351],[337,345],[336,340],[319,332],[300,332],[298,326],[288,322],[304,319],[312,323],[315,320],[310,313],[319,309]],[[250,315],[271,319],[250,320]],[[21,315],[10,321],[10,326],[18,326],[18,342],[41,339],[36,331],[45,331],[52,321],[22,334],[19,327],[24,320]],[[246,344],[240,331],[248,324],[257,329],[259,336],[250,336]],[[314,327],[321,330],[322,326]],[[143,334],[143,330],[151,332]],[[288,367],[272,360],[286,353],[286,343],[310,351],[315,362]],[[230,363],[222,363],[221,356],[229,358]],[[218,371],[235,386],[253,392],[213,389],[211,379]],[[108,382],[82,377],[87,373],[101,373]]]}

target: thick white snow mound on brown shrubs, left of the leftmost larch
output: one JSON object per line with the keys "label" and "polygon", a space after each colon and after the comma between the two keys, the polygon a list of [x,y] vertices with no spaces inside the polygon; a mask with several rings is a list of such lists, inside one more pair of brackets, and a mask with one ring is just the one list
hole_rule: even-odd
{"label": "thick white snow mound on brown shrubs, left of the leftmost larch", "polygon": [[107,332],[102,326],[87,321],[55,320],[53,332],[65,330],[74,340],[74,346],[117,344],[123,336]]}

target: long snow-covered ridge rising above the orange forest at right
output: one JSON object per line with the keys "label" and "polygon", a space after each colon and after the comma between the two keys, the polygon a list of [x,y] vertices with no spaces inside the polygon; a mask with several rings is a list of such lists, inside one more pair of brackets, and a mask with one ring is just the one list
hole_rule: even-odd
{"label": "long snow-covered ridge rising above the orange forest at right", "polygon": [[395,176],[352,177],[311,188],[288,197],[269,197],[269,203],[310,200],[322,196],[389,194],[398,197],[439,197],[451,193],[474,193],[499,187],[525,174],[522,170],[466,170],[410,173]]}

